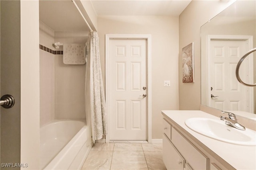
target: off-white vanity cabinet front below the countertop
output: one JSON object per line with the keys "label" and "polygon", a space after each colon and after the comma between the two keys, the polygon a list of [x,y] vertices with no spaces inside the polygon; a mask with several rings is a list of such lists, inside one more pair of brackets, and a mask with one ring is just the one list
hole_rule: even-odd
{"label": "off-white vanity cabinet front below the countertop", "polygon": [[[163,161],[168,170],[210,170],[210,159],[203,152],[166,119],[163,124]],[[167,125],[170,125],[168,131]]]}

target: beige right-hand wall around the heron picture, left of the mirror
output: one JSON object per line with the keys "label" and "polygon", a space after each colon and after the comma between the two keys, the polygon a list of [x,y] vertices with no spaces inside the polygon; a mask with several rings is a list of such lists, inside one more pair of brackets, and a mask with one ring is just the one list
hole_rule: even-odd
{"label": "beige right-hand wall around the heron picture, left of the mirror", "polygon": [[[180,110],[198,110],[201,103],[200,28],[232,1],[192,0],[179,16],[179,98]],[[194,83],[182,83],[182,48],[194,42]]]}

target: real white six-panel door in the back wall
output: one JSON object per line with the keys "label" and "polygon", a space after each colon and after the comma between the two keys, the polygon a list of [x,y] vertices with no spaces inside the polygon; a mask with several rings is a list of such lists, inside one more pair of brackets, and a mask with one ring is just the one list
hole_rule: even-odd
{"label": "real white six-panel door in the back wall", "polygon": [[109,139],[147,140],[146,40],[109,41]]}

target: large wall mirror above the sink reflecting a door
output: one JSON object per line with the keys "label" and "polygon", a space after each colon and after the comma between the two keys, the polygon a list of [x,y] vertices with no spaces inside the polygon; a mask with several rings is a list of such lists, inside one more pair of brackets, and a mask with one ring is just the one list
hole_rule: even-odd
{"label": "large wall mirror above the sink reflecting a door", "polygon": [[[236,1],[201,27],[201,104],[256,120],[256,87],[236,65],[256,48],[256,1]],[[256,52],[240,66],[256,82]],[[252,114],[254,113],[254,114]]]}

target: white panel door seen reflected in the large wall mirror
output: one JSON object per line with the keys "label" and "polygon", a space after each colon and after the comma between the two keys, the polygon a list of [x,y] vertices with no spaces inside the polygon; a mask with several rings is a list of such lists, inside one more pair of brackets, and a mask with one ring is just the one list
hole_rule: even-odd
{"label": "white panel door seen reflected in the large wall mirror", "polygon": [[[210,107],[220,110],[250,111],[250,90],[236,79],[236,65],[248,51],[247,41],[211,40],[210,42]],[[249,62],[244,60],[240,77],[249,82]],[[251,70],[252,71],[252,70]]]}

